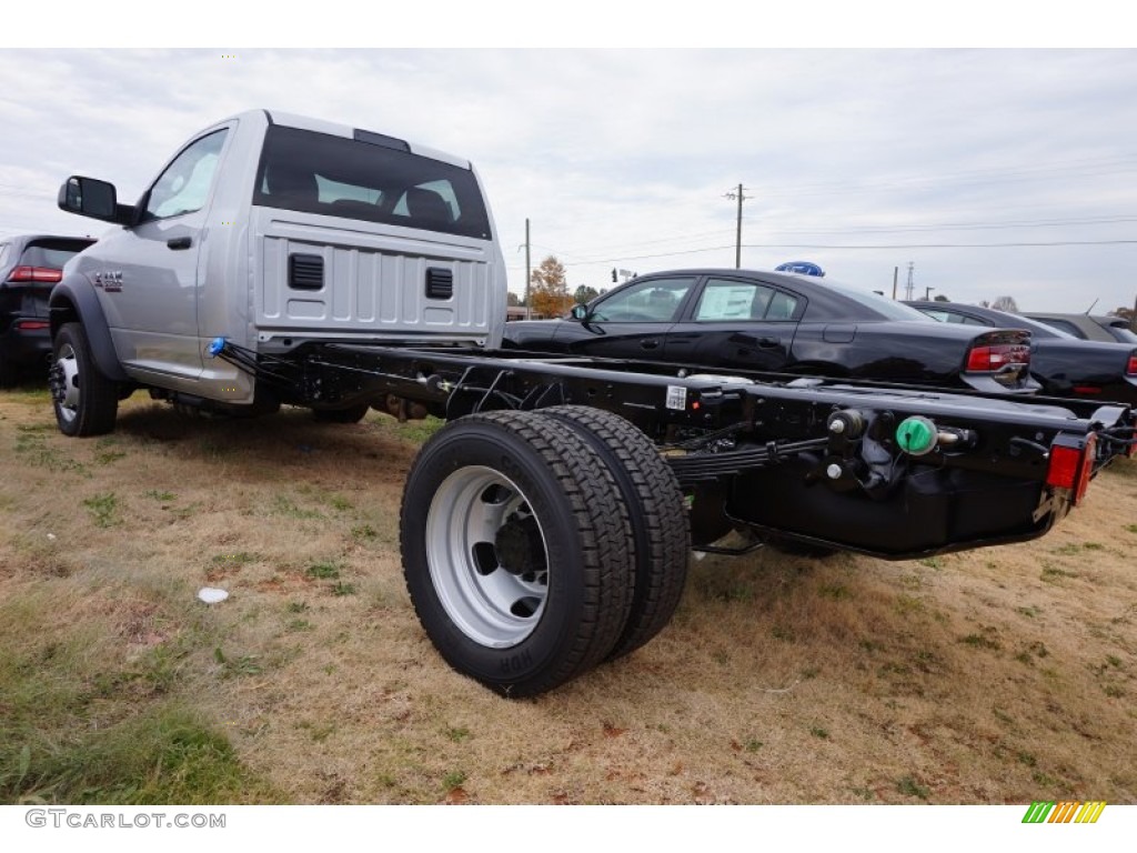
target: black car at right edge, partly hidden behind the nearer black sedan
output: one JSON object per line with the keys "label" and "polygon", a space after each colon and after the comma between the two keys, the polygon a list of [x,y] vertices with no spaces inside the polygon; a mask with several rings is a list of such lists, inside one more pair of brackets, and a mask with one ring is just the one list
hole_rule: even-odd
{"label": "black car at right edge, partly hidden behind the nearer black sedan", "polygon": [[1030,374],[1052,397],[1137,404],[1137,345],[1074,338],[1016,314],[956,303],[913,301],[912,307],[946,323],[1019,326],[1031,336]]}

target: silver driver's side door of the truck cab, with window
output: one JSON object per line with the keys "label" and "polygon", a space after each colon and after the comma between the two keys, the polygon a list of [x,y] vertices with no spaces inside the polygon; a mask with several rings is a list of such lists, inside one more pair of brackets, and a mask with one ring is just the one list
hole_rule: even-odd
{"label": "silver driver's side door of the truck cab, with window", "polygon": [[147,191],[138,223],[99,243],[94,283],[125,365],[201,373],[198,258],[226,134],[214,131],[182,149]]}

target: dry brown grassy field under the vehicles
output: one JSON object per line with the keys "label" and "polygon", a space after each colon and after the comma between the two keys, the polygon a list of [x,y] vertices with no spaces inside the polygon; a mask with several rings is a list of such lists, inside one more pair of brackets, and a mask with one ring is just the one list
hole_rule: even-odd
{"label": "dry brown grassy field under the vehicles", "polygon": [[696,561],[656,640],[511,702],[402,585],[424,434],[138,395],[73,440],[0,392],[0,802],[1137,802],[1134,462],[1026,545]]}

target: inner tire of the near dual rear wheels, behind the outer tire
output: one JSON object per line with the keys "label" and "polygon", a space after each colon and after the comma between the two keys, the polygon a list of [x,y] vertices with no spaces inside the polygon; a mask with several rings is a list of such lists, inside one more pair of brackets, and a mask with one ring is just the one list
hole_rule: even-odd
{"label": "inner tire of the near dual rear wheels, behind the outer tire", "polygon": [[655,445],[620,415],[587,406],[543,414],[566,422],[607,463],[628,506],[634,548],[634,593],[628,623],[608,654],[634,652],[662,631],[687,583],[691,547],[683,494]]}

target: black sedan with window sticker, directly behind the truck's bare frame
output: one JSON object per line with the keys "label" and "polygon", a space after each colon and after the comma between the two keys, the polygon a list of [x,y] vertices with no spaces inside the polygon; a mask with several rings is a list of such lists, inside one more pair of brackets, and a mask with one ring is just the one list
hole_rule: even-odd
{"label": "black sedan with window sticker, directly behind the truck's bare frame", "polygon": [[506,323],[506,348],[717,371],[1037,391],[1030,336],[937,323],[808,275],[680,270],[634,279],[562,320]]}

